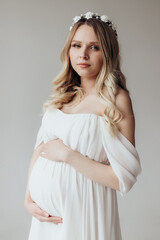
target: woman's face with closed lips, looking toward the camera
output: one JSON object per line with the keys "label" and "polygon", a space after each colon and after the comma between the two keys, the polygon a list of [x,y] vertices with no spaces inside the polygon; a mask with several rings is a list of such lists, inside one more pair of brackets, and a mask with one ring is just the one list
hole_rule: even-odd
{"label": "woman's face with closed lips, looking toward the camera", "polygon": [[96,79],[102,67],[103,55],[92,27],[81,25],[77,29],[71,41],[69,57],[73,69],[81,78]]}

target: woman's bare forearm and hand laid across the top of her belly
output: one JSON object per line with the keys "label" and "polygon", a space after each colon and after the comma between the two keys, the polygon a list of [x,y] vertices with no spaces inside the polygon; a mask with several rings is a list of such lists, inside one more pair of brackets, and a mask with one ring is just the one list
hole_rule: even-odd
{"label": "woman's bare forearm and hand laid across the top of her belly", "polygon": [[40,156],[51,161],[66,162],[94,182],[119,190],[118,178],[111,166],[74,151],[61,139],[50,140],[44,144]]}

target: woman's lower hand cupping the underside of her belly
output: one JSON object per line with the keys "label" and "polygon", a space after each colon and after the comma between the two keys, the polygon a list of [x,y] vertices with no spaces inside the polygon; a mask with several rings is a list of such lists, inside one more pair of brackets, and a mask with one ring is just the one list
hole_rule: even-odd
{"label": "woman's lower hand cupping the underside of her belly", "polygon": [[46,211],[42,210],[30,196],[25,199],[24,207],[27,211],[37,218],[40,222],[53,222],[54,224],[63,223],[63,219],[57,216],[50,216]]}

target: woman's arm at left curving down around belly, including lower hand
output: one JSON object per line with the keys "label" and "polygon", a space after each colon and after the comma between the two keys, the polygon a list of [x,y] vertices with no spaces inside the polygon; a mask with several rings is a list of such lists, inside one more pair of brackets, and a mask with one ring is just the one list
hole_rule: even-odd
{"label": "woman's arm at left curving down around belly, including lower hand", "polygon": [[53,222],[55,224],[62,223],[61,217],[56,216],[50,216],[46,211],[42,210],[31,198],[30,192],[29,192],[29,178],[30,174],[33,168],[33,165],[35,164],[36,160],[38,159],[40,153],[42,152],[44,143],[41,142],[37,148],[34,150],[29,170],[28,170],[28,180],[27,180],[27,187],[26,187],[26,193],[24,198],[24,207],[27,209],[27,211],[36,217],[41,222]]}

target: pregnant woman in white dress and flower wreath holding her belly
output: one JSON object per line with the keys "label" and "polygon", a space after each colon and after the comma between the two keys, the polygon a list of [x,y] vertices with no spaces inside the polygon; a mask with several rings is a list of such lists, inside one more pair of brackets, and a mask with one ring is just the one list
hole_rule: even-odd
{"label": "pregnant woman in white dress and flower wreath holding her belly", "polygon": [[29,167],[29,240],[121,240],[116,194],[141,165],[117,31],[105,15],[73,20]]}

